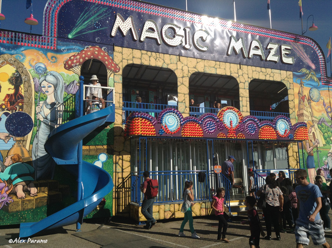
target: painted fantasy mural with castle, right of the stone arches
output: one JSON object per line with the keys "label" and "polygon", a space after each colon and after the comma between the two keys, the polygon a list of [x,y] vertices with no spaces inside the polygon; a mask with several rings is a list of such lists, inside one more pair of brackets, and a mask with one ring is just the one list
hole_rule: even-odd
{"label": "painted fantasy mural with castle, right of the stone arches", "polygon": [[303,142],[303,156],[300,159],[305,161],[311,183],[316,175],[330,181],[332,117],[329,87],[321,84],[320,76],[313,69],[303,68],[299,73],[293,74],[294,93],[297,93],[296,120],[304,121],[308,126],[308,140]]}

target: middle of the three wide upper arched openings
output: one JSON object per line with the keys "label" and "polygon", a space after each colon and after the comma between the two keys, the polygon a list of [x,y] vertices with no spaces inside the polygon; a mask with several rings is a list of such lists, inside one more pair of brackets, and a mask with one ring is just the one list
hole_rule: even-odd
{"label": "middle of the three wide upper arched openings", "polygon": [[190,115],[193,116],[203,113],[216,114],[226,106],[240,109],[238,82],[227,75],[193,73],[189,78],[189,99]]}

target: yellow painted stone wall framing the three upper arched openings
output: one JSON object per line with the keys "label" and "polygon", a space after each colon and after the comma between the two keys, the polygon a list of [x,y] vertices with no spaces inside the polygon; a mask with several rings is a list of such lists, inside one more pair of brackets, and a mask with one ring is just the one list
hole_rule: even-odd
{"label": "yellow painted stone wall framing the three upper arched openings", "polygon": [[[240,111],[244,116],[250,115],[249,84],[253,79],[281,81],[285,84],[289,96],[289,113],[292,124],[295,119],[295,101],[293,88],[293,73],[277,69],[243,66],[224,62],[188,58],[169,54],[161,54],[130,48],[115,47],[114,61],[120,71],[114,74],[115,88],[115,123],[114,123],[114,205],[116,215],[128,216],[130,208],[130,140],[124,137],[122,125],[122,70],[128,64],[143,64],[169,68],[178,77],[178,108],[184,117],[189,116],[189,79],[195,72],[212,73],[233,76],[239,85]],[[289,162],[296,168],[298,158],[297,146],[289,145]],[[203,208],[205,209],[205,208]],[[154,211],[155,213],[160,212]],[[164,212],[167,212],[164,210]],[[172,212],[172,211],[171,211]],[[177,211],[174,211],[175,213]],[[139,211],[140,213],[140,211]],[[130,214],[134,216],[133,214]],[[178,213],[177,215],[180,215]],[[138,217],[137,217],[138,219]]]}

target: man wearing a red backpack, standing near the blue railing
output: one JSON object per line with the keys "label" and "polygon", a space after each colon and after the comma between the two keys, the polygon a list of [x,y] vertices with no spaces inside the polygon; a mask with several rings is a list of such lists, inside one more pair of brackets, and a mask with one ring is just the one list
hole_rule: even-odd
{"label": "man wearing a red backpack, standing near the blue railing", "polygon": [[156,179],[150,179],[150,173],[148,171],[143,172],[144,183],[141,186],[141,191],[144,194],[144,200],[142,202],[141,213],[146,218],[145,229],[150,229],[157,222],[153,218],[153,203],[154,198],[158,193],[158,181]]}

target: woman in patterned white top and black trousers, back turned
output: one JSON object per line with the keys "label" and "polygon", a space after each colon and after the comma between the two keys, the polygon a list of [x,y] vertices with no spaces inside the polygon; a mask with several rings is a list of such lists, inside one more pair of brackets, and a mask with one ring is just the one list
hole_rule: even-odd
{"label": "woman in patterned white top and black trousers, back turned", "polygon": [[272,223],[274,231],[276,232],[277,240],[281,240],[279,227],[279,212],[282,211],[284,204],[284,197],[276,181],[268,176],[266,177],[266,184],[262,186],[257,192],[258,196],[265,195],[265,207],[263,205],[263,213],[266,224],[267,236],[265,239],[271,240]]}

